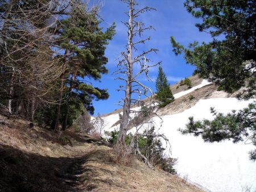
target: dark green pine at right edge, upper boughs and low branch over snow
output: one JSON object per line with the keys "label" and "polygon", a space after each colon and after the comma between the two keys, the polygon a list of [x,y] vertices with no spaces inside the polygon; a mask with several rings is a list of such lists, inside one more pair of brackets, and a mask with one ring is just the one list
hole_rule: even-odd
{"label": "dark green pine at right edge, upper boughs and low branch over snow", "polygon": [[[213,40],[209,43],[194,42],[183,47],[171,37],[176,55],[184,53],[187,63],[196,66],[195,73],[208,78],[228,93],[246,86],[237,95],[239,99],[255,98],[256,95],[256,2],[251,0],[186,0],[184,6],[202,23],[196,24],[200,31],[207,31]],[[221,35],[221,40],[216,37]],[[244,139],[256,146],[255,103],[228,115],[212,111],[215,119],[194,122],[190,118],[183,133],[202,135],[205,141]],[[250,152],[256,160],[256,150]]]}

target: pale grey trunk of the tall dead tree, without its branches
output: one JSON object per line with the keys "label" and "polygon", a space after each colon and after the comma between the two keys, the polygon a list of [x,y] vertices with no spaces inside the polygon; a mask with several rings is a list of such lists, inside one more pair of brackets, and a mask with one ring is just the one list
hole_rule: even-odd
{"label": "pale grey trunk of the tall dead tree, without its branches", "polygon": [[131,106],[131,83],[133,77],[133,7],[134,0],[130,1],[129,5],[129,30],[128,30],[128,47],[127,47],[127,80],[125,89],[125,99],[123,104],[123,117],[121,121],[121,126],[118,135],[118,145],[122,148],[126,148],[125,137],[127,133],[127,127],[129,123],[130,116],[130,106]]}

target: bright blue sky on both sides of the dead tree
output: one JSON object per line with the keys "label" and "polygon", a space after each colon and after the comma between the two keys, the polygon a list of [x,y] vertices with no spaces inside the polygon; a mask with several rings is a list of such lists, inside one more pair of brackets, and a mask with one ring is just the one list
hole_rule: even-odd
{"label": "bright blue sky on both sides of the dead tree", "polygon": [[[98,3],[97,0],[95,0]],[[102,1],[101,1],[102,2]],[[157,54],[150,55],[150,59],[154,62],[162,61],[162,67],[170,84],[175,84],[181,78],[189,77],[193,73],[193,66],[185,64],[182,56],[175,56],[172,52],[170,37],[174,36],[175,40],[180,44],[187,45],[193,41],[209,41],[210,35],[204,32],[199,32],[195,24],[200,22],[195,19],[191,14],[188,14],[183,6],[183,1],[175,0],[138,0],[139,7],[150,6],[154,7],[157,11],[147,12],[139,18],[148,26],[154,26],[155,30],[148,31],[144,37],[151,36],[151,40],[146,45],[139,47],[138,52],[146,51],[148,48],[159,49]],[[138,8],[139,8],[138,7]],[[102,89],[108,89],[110,97],[106,101],[94,101],[95,108],[94,115],[98,112],[106,114],[115,109],[120,108],[116,105],[120,101],[124,93],[118,92],[116,89],[122,82],[114,80],[113,72],[117,69],[116,59],[121,51],[125,51],[127,43],[127,30],[121,21],[127,21],[125,12],[128,7],[125,3],[119,0],[105,0],[102,2],[100,15],[104,19],[101,26],[109,27],[113,22],[116,24],[117,34],[113,40],[110,41],[105,55],[108,57],[109,62],[106,67],[109,70],[108,74],[102,76],[101,82],[93,82],[94,86]],[[150,75],[154,80],[158,74],[158,68],[152,69]],[[155,90],[155,82],[147,82],[144,78],[141,81]]]}

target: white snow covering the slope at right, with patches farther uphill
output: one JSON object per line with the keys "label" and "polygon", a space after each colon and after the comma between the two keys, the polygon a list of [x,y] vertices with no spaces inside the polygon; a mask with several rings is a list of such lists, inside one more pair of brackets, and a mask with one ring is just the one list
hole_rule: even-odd
{"label": "white snow covering the slope at right, with patches farther uphill", "polygon": [[[192,91],[208,85],[207,81],[175,94],[175,98],[182,97]],[[172,145],[172,157],[178,158],[176,170],[181,177],[188,177],[188,181],[209,191],[245,191],[251,188],[256,190],[256,162],[249,160],[248,152],[254,149],[252,144],[224,141],[221,143],[204,143],[201,137],[181,135],[178,128],[184,128],[189,116],[195,120],[212,119],[210,107],[215,107],[218,112],[239,110],[251,101],[237,101],[236,98],[210,98],[200,99],[195,106],[183,112],[162,116],[163,125],[160,133],[164,133]],[[139,110],[139,107],[135,108]],[[117,129],[113,126],[119,120],[118,114],[104,118],[107,131]],[[160,123],[159,118],[155,122]]]}

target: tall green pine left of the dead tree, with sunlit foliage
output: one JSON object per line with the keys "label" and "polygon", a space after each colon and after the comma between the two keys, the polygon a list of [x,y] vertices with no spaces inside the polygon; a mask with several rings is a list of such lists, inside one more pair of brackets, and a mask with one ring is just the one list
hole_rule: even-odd
{"label": "tall green pine left of the dead tree, with sunlit foliage", "polygon": [[[56,105],[55,118],[52,122],[54,130],[59,123],[61,112],[63,118],[63,130],[72,123],[71,111],[82,112],[83,106],[93,114],[92,99],[107,99],[109,97],[105,89],[101,90],[85,83],[84,78],[99,80],[101,74],[108,70],[105,64],[108,59],[104,56],[105,45],[114,35],[114,25],[102,31],[98,25],[97,9],[87,11],[86,6],[77,1],[72,5],[69,17],[59,22],[61,26],[56,35],[59,35],[58,48],[64,49],[64,73],[60,77],[59,103]],[[65,81],[64,81],[65,80]],[[65,103],[64,106],[61,104]],[[77,107],[71,108],[72,105]],[[75,111],[74,111],[75,110]],[[69,122],[69,123],[68,123]]]}

